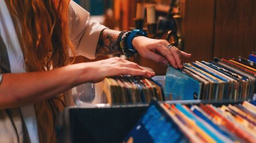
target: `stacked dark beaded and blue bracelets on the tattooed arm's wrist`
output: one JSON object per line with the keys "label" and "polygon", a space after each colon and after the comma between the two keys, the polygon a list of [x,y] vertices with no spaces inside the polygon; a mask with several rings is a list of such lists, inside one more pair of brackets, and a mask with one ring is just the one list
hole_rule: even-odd
{"label": "stacked dark beaded and blue bracelets on the tattooed arm's wrist", "polygon": [[139,29],[134,29],[133,31],[122,31],[117,38],[119,49],[127,58],[133,57],[138,53],[132,44],[132,41],[136,36],[147,37],[147,33]]}

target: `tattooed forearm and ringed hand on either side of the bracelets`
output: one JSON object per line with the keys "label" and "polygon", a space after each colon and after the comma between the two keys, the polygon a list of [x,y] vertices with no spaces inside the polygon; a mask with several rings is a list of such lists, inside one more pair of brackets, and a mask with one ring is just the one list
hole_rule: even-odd
{"label": "tattooed forearm and ringed hand on either side of the bracelets", "polygon": [[[117,40],[119,33],[119,31],[104,29],[100,34],[96,55],[121,53]],[[143,58],[155,60],[163,64],[170,63],[175,68],[182,68],[183,58],[191,57],[191,54],[180,51],[174,46],[174,48],[168,49],[170,44],[166,40],[138,36],[133,39],[132,44]]]}

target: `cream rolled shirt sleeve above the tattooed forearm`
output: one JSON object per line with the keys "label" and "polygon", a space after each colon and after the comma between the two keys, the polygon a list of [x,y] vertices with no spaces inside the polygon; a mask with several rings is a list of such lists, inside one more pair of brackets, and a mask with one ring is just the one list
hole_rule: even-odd
{"label": "cream rolled shirt sleeve above the tattooed forearm", "polygon": [[100,33],[106,27],[95,20],[89,20],[89,12],[71,1],[69,6],[70,38],[76,47],[76,55],[96,58],[96,47]]}

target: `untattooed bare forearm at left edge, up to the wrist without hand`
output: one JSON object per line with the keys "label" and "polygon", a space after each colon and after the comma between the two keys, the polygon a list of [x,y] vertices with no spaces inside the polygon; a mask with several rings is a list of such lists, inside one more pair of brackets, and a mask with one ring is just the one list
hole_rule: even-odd
{"label": "untattooed bare forearm at left edge, up to the wrist without hand", "polygon": [[86,70],[79,64],[47,72],[6,73],[0,85],[0,109],[28,105],[53,97],[86,81],[82,75],[86,75]]}

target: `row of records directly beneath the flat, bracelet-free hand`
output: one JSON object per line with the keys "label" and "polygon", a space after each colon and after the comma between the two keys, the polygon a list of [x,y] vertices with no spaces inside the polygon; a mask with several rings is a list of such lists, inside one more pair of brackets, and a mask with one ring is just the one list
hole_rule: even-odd
{"label": "row of records directly beneath the flat, bracelet-free hand", "polygon": [[139,103],[151,99],[164,101],[162,86],[152,79],[138,76],[117,76],[105,78],[102,103]]}

